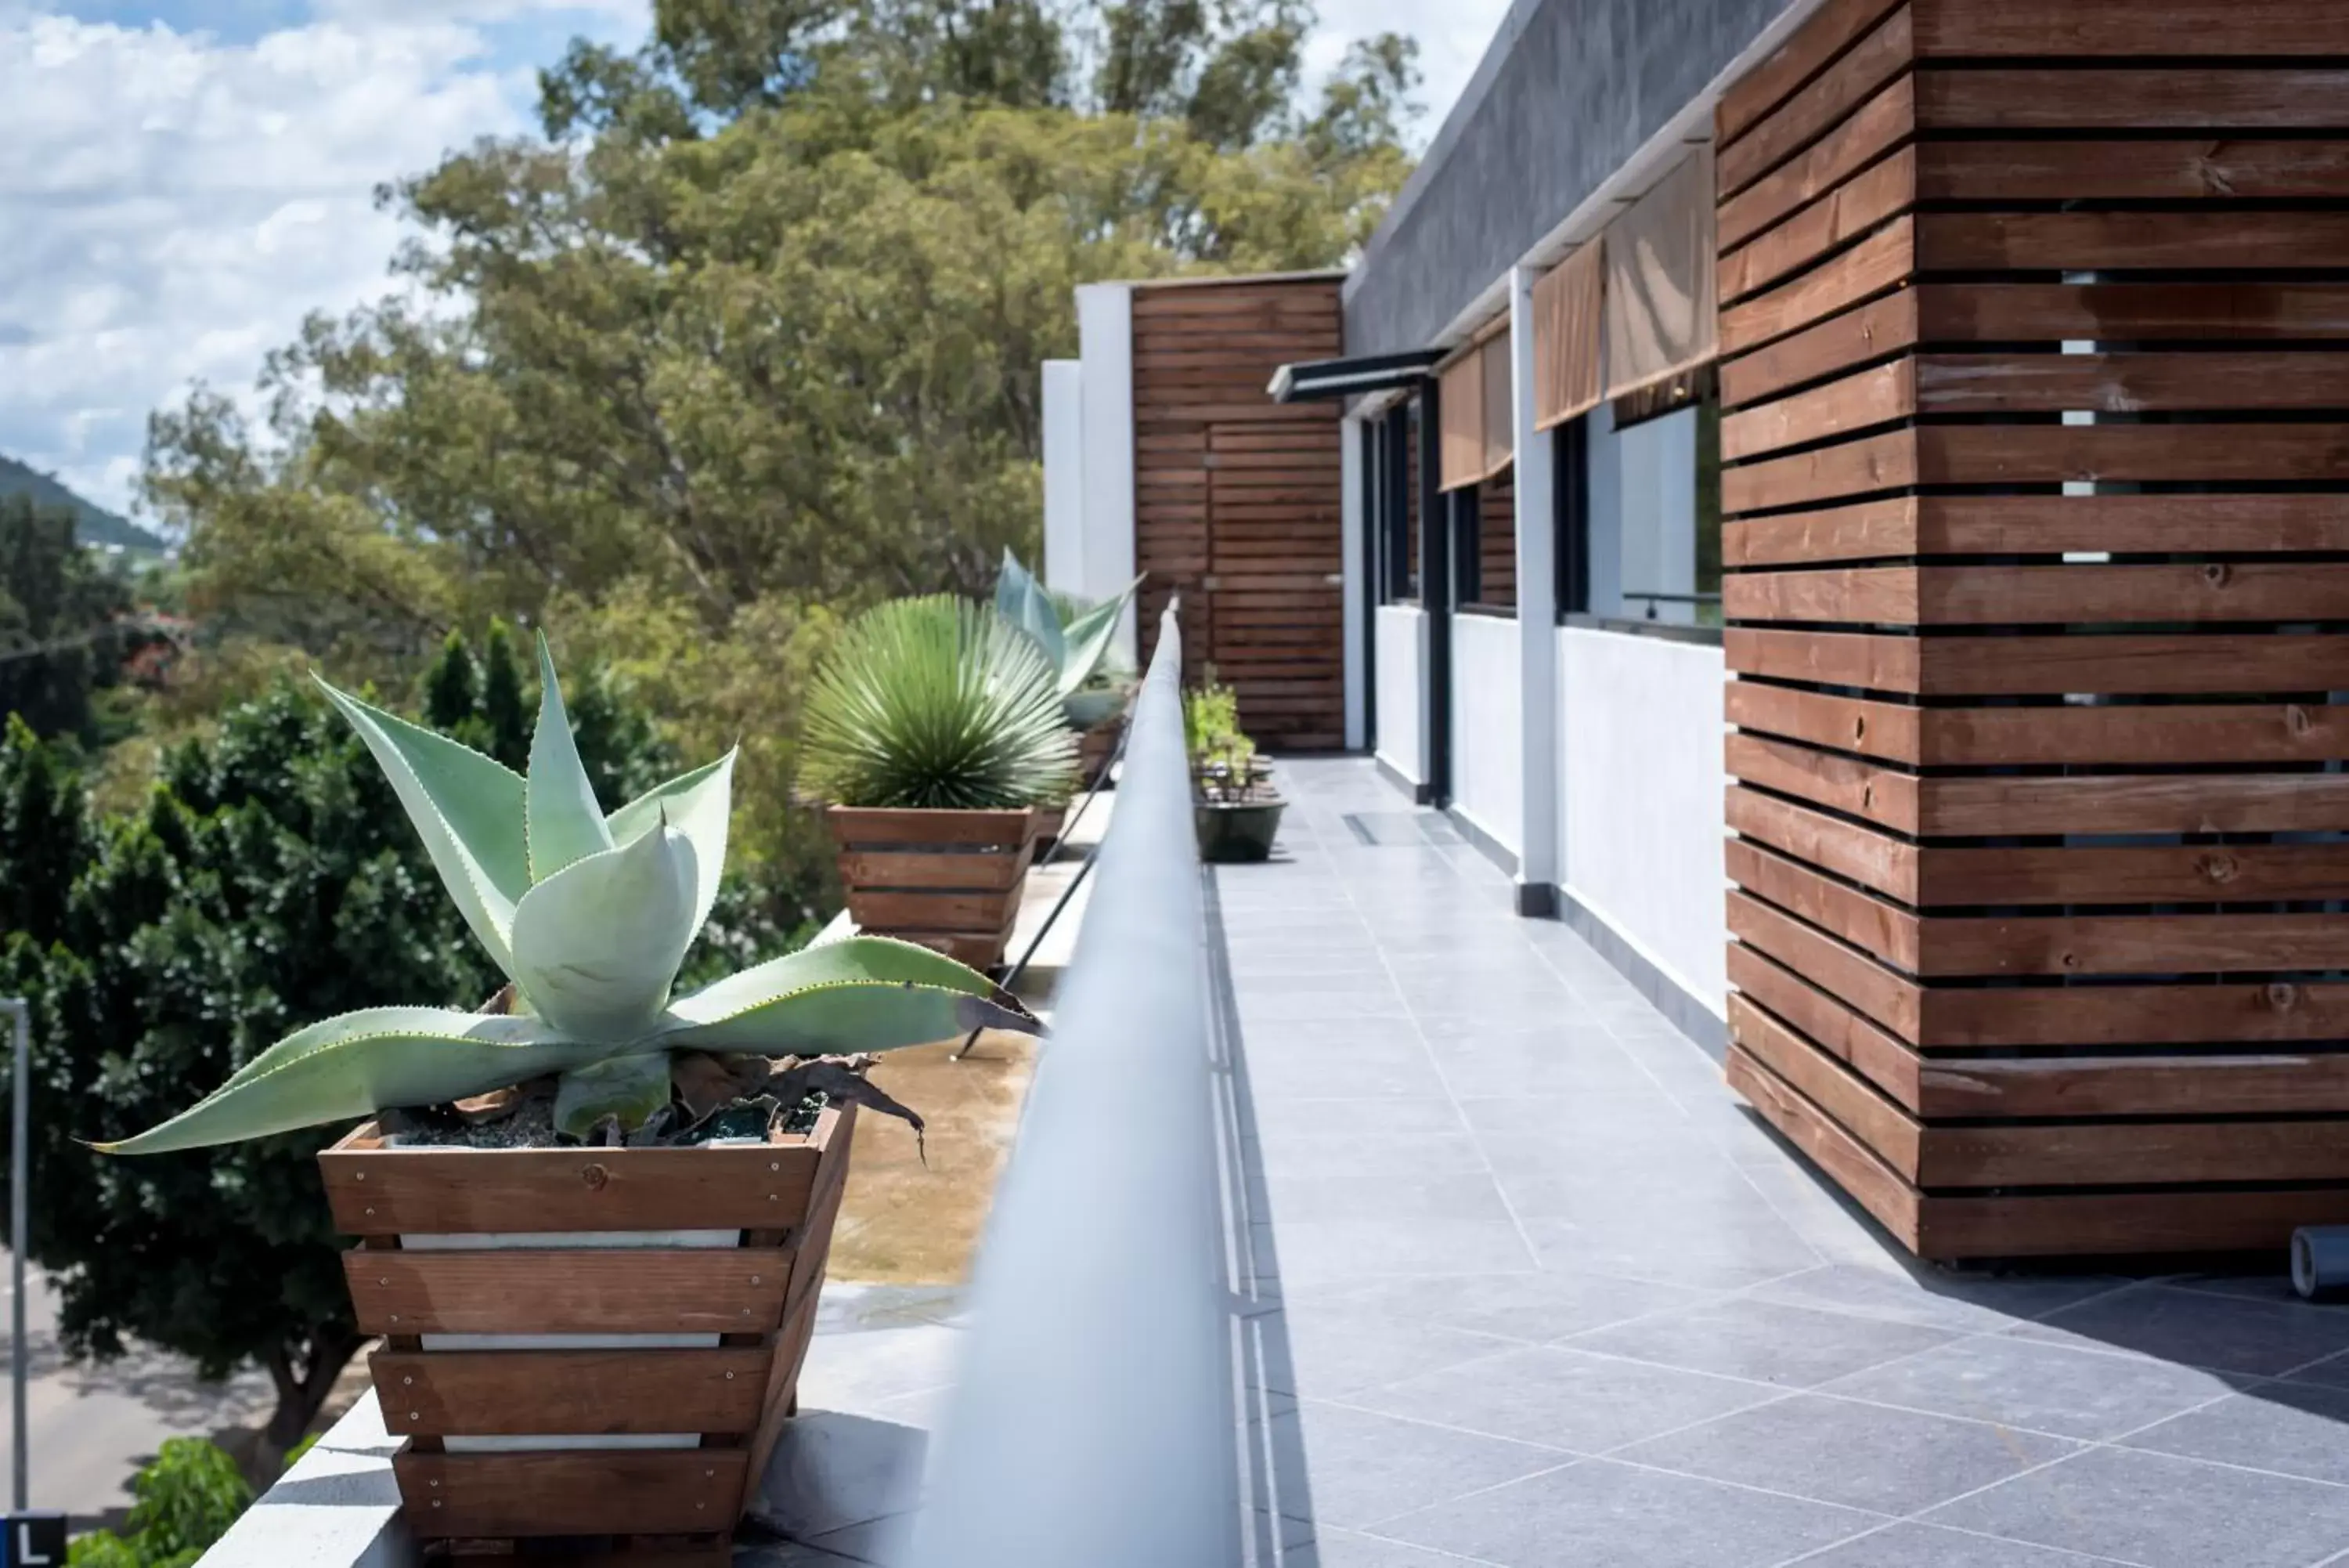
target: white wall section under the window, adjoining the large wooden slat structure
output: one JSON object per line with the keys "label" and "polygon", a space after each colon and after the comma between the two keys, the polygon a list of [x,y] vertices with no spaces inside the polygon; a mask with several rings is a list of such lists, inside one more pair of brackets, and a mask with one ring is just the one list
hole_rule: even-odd
{"label": "white wall section under the window, adjoining the large wooden slat structure", "polygon": [[1715,1013],[1729,1001],[1722,649],[1557,635],[1564,889]]}

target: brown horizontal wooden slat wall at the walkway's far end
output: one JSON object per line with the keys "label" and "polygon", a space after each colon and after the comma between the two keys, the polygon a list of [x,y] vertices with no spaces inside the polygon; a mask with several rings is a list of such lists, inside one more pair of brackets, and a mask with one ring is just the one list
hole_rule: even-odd
{"label": "brown horizontal wooden slat wall at the walkway's far end", "polygon": [[1337,277],[1135,284],[1135,569],[1142,656],[1182,595],[1184,679],[1207,665],[1264,745],[1344,745],[1339,404],[1278,404],[1292,360],[1341,353]]}

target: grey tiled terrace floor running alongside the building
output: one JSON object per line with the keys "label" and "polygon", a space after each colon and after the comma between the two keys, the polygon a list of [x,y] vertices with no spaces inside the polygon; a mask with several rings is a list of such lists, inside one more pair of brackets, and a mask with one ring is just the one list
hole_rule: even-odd
{"label": "grey tiled terrace floor running alongside the building", "polygon": [[[1280,778],[1207,898],[1250,1563],[2349,1563],[2349,1312],[1912,1265],[1445,818]],[[827,1295],[740,1563],[890,1559],[958,1338]]]}

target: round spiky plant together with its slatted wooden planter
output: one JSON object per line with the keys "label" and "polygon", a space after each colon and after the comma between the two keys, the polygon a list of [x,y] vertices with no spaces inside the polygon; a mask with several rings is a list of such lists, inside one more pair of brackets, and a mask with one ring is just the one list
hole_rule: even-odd
{"label": "round spiky plant together with its slatted wooden planter", "polygon": [[1003,961],[1076,736],[1043,649],[984,604],[893,599],[808,689],[799,788],[827,802],[848,917],[963,964]]}

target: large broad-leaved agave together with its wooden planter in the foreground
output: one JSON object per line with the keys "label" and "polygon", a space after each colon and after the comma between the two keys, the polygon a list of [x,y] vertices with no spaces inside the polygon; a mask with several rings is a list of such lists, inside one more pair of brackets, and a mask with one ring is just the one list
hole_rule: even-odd
{"label": "large broad-leaved agave together with its wooden planter in the foreground", "polygon": [[[157,1154],[369,1121],[319,1154],[420,1537],[723,1542],[794,1408],[864,1056],[1034,1030],[984,976],[850,938],[669,987],[726,865],[733,755],[604,813],[540,658],[529,776],[334,686],[510,983],[327,1018]],[[319,682],[324,684],[324,682]]]}

